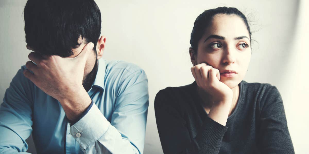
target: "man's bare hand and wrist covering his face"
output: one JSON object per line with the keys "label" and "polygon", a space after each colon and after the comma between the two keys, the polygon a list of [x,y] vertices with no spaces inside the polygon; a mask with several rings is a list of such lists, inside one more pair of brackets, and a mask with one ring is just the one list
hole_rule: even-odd
{"label": "man's bare hand and wrist covering his face", "polygon": [[[83,87],[84,68],[93,43],[88,43],[74,58],[44,56],[31,52],[23,73],[46,94],[57,99],[69,120],[74,120],[91,103]],[[31,70],[33,74],[29,71]]]}

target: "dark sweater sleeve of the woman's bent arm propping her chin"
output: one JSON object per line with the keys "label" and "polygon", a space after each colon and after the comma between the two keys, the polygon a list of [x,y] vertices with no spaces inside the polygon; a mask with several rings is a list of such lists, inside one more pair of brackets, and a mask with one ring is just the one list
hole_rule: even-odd
{"label": "dark sweater sleeve of the woman's bent arm propping her chin", "polygon": [[171,99],[173,97],[175,96],[168,95],[164,90],[159,91],[155,97],[155,117],[163,152],[217,154],[227,127],[205,117],[197,136],[191,140],[181,111],[171,105],[181,102],[172,103],[175,101]]}

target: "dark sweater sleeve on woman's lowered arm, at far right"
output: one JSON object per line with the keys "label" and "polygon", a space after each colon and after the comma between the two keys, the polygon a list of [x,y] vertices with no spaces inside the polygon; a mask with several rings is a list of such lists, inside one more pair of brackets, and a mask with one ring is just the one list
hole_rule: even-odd
{"label": "dark sweater sleeve on woman's lowered arm, at far right", "polygon": [[265,154],[294,154],[283,101],[275,86],[267,88],[261,100],[258,146]]}

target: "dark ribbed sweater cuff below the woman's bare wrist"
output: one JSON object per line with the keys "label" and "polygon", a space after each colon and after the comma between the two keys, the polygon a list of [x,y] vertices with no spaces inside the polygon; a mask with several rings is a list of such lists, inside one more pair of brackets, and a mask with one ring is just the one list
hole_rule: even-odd
{"label": "dark ribbed sweater cuff below the woman's bare wrist", "polygon": [[[219,150],[226,130],[227,127],[207,116],[199,134],[197,134],[196,140],[198,143],[203,143],[202,145],[207,145],[214,150]],[[201,146],[201,144],[199,144],[199,146]]]}

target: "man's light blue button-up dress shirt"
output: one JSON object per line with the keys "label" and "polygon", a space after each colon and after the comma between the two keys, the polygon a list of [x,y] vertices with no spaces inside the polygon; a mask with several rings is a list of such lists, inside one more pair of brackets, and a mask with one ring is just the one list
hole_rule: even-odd
{"label": "man's light blue button-up dress shirt", "polygon": [[88,91],[89,111],[70,126],[60,103],[23,75],[12,79],[0,107],[0,153],[27,153],[32,133],[38,153],[143,153],[148,80],[138,66],[99,60]]}

